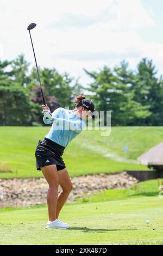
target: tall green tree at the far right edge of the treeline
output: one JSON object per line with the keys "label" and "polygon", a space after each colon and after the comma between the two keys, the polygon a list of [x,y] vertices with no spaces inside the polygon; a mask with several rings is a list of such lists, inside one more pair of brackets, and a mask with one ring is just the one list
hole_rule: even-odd
{"label": "tall green tree at the far right edge of the treeline", "polygon": [[[135,83],[131,90],[134,92],[134,100],[148,107],[151,115],[147,117],[143,125],[162,125],[162,82],[156,77],[157,71],[153,60],[143,58],[137,66]],[[138,120],[138,124],[141,120]]]}

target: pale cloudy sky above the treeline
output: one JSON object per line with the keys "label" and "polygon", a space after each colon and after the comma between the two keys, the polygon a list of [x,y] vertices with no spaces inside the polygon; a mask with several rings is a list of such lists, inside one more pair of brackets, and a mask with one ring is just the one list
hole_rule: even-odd
{"label": "pale cloudy sky above the treeline", "polygon": [[152,58],[163,74],[162,0],[0,0],[0,58],[20,53],[34,65],[27,26],[37,62],[90,82],[83,68],[113,68],[125,59],[130,68]]}

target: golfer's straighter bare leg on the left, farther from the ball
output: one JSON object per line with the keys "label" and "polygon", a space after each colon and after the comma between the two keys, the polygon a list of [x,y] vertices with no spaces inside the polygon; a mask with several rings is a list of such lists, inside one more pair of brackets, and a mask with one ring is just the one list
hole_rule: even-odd
{"label": "golfer's straighter bare leg on the left, farther from the ball", "polygon": [[59,186],[57,167],[55,164],[52,164],[51,166],[41,167],[41,170],[49,184],[49,190],[47,193],[49,221],[54,221],[57,218],[56,210]]}

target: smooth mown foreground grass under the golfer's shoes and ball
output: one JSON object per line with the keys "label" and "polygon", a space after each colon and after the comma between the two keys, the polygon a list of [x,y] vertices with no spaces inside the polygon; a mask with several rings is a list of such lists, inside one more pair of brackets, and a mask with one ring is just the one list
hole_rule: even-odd
{"label": "smooth mown foreground grass under the golfer's shoes and ball", "polygon": [[[67,230],[47,230],[47,208],[0,210],[1,245],[162,245],[162,199],[66,204]],[[150,220],[147,226],[146,220]]]}

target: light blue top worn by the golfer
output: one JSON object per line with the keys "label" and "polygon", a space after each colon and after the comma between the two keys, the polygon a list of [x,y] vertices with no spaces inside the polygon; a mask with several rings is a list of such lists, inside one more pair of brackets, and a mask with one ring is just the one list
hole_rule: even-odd
{"label": "light blue top worn by the golfer", "polygon": [[53,121],[43,117],[45,124],[52,124],[51,130],[45,138],[66,147],[80,132],[85,129],[85,122],[74,115],[72,110],[59,107],[52,113]]}

